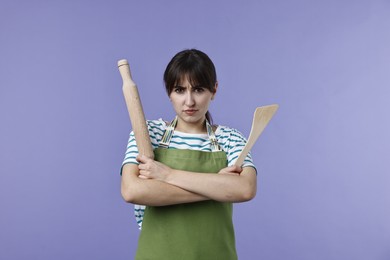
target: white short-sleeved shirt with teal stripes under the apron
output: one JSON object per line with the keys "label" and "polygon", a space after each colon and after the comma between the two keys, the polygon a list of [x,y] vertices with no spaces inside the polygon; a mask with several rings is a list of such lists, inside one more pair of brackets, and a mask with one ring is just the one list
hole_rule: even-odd
{"label": "white short-sleeved shirt with teal stripes under the apron", "polygon": [[[150,140],[153,149],[159,146],[159,142],[165,132],[166,123],[162,119],[147,120]],[[226,152],[228,166],[234,165],[242,149],[246,144],[245,137],[236,129],[226,126],[218,126],[215,130],[215,137],[223,151]],[[190,149],[205,152],[211,152],[211,142],[207,134],[188,134],[179,131],[174,131],[169,144],[170,149]],[[136,160],[138,149],[134,138],[134,132],[130,133],[125,158],[122,166],[127,163],[139,164]],[[250,153],[245,158],[242,167],[254,167]],[[145,206],[134,205],[134,214],[139,227],[142,227],[142,220],[145,211]]]}

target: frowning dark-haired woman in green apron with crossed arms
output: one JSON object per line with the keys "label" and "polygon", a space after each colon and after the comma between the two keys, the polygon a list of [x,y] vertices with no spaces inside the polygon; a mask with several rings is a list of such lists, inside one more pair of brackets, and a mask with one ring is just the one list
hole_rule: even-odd
{"label": "frowning dark-haired woman in green apron with crossed arms", "polygon": [[211,126],[218,82],[210,58],[195,49],[176,54],[164,73],[176,118],[147,121],[155,159],[139,156],[130,134],[121,192],[140,226],[136,259],[237,259],[232,202],[256,194],[250,155],[234,166],[245,138]]}

